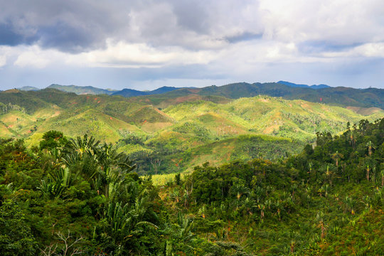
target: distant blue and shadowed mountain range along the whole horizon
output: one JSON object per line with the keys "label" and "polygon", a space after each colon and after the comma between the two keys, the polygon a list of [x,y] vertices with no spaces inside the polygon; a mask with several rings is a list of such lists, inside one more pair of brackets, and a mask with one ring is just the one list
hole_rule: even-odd
{"label": "distant blue and shadowed mountain range along the whole horizon", "polygon": [[[50,85],[48,88],[78,95],[120,95],[123,97],[142,97],[156,107],[164,108],[167,102],[174,104],[179,97],[210,97],[212,100],[238,99],[268,95],[282,97],[286,100],[302,99],[309,102],[321,102],[342,107],[378,107],[384,109],[384,90],[378,88],[354,89],[350,87],[329,87],[328,85],[299,85],[292,82],[247,83],[238,82],[229,85],[196,87],[160,87],[151,91],[133,89],[105,90],[92,86]],[[20,90],[36,90],[33,87],[21,87]],[[225,99],[223,99],[223,97]],[[215,98],[215,99],[213,99]]]}

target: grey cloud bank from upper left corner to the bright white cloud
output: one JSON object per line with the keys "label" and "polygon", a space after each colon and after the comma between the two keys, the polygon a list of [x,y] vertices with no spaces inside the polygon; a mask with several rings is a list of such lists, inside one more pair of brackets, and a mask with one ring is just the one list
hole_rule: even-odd
{"label": "grey cloud bank from upper left corner to the bright white cloud", "polygon": [[103,48],[107,38],[186,48],[203,47],[196,44],[201,36],[231,43],[260,33],[236,21],[238,10],[254,2],[0,0],[0,44],[78,53]]}

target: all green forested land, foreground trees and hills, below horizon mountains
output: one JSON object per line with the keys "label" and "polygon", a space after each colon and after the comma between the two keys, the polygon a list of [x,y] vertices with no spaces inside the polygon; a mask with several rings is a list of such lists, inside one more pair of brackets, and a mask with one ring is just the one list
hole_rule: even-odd
{"label": "all green forested land, foreground trees and hills, below horizon mountains", "polygon": [[1,254],[383,255],[383,110],[181,92],[0,92]]}

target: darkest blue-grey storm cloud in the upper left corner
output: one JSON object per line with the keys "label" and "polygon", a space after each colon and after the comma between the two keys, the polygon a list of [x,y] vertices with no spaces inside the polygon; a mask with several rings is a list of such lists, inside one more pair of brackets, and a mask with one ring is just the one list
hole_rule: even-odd
{"label": "darkest blue-grey storm cloud in the upper left corner", "polygon": [[[0,1],[2,45],[39,44],[79,52],[98,48],[105,38],[124,34],[129,6],[101,1]],[[120,8],[123,7],[123,8]]]}

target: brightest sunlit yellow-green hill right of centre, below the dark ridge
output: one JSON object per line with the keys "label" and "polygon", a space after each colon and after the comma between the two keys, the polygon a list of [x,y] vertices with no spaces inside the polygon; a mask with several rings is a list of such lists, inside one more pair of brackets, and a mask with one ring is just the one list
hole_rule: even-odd
{"label": "brightest sunlit yellow-green hill right of centre, below the dark ridge", "polygon": [[[168,107],[164,112],[184,122],[215,116],[217,120],[227,120],[223,122],[224,125],[232,122],[247,132],[300,137],[304,140],[314,139],[316,132],[341,132],[346,122],[353,123],[361,119],[373,121],[384,117],[383,110],[375,110],[370,116],[363,116],[343,107],[267,96],[240,98],[226,104],[186,102]],[[213,122],[213,118],[204,120],[205,125],[210,122]],[[215,125],[218,126],[218,122]]]}

